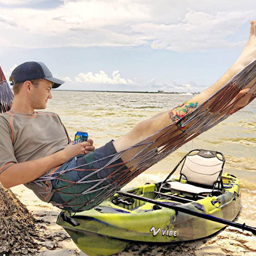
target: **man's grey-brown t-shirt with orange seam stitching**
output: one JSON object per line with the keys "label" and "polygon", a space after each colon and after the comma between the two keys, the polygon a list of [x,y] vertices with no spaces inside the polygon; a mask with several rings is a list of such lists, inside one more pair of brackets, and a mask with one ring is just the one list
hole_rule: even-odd
{"label": "man's grey-brown t-shirt with orange seam stitching", "polygon": [[[63,150],[70,143],[68,132],[53,112],[0,114],[0,174],[14,163],[36,160]],[[51,173],[50,169],[47,173]],[[24,184],[36,196],[49,202],[53,196],[51,182]]]}

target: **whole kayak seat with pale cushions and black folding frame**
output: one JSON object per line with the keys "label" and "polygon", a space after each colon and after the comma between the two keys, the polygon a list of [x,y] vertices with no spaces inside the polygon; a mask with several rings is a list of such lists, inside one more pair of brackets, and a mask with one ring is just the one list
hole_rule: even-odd
{"label": "whole kayak seat with pale cushions and black folding frame", "polygon": [[[183,164],[182,164],[183,162]],[[174,170],[182,164],[179,181],[167,181],[163,183],[169,185],[169,189],[191,194],[224,193],[222,182],[222,170],[225,158],[222,153],[209,150],[193,150],[187,153],[178,163]],[[185,179],[186,183],[182,183]]]}

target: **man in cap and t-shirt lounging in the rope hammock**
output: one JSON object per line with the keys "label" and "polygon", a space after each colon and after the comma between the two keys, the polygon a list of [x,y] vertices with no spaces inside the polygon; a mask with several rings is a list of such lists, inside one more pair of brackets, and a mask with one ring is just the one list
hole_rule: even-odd
{"label": "man in cap and t-shirt lounging in the rope hammock", "polygon": [[[63,209],[90,209],[250,102],[256,90],[252,71],[220,89],[255,56],[256,20],[252,20],[242,54],[216,83],[177,108],[138,123],[131,132],[95,151],[91,139],[74,145],[57,114],[34,111],[46,108],[51,89],[63,81],[53,78],[44,63],[25,62],[10,77],[14,91],[11,110],[0,114],[0,181],[6,188],[24,184],[41,200]],[[245,84],[239,84],[239,79]],[[162,148],[161,156],[157,148]]]}

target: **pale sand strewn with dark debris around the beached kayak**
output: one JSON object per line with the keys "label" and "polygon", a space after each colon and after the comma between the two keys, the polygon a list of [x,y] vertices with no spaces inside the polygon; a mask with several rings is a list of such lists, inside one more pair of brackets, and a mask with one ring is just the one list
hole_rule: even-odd
{"label": "pale sand strewn with dark debris around the beached kayak", "polygon": [[[40,201],[34,193],[24,185],[11,188],[16,197],[27,206],[28,210],[38,220],[37,229],[44,234],[45,242],[40,242],[41,248],[36,256],[73,256],[87,255],[73,243],[69,234],[57,225],[56,219],[60,209]],[[242,195],[242,205],[245,198]],[[237,219],[240,223],[256,226],[256,221],[243,219],[242,213]],[[129,248],[116,254],[128,255],[248,255],[256,253],[256,237],[250,232],[242,232],[233,227],[226,227],[205,239],[180,244],[132,244]]]}

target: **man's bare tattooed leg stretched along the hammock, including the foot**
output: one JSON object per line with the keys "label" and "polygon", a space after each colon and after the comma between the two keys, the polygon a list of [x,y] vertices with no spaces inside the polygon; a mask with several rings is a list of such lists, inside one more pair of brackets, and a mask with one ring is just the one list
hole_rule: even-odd
{"label": "man's bare tattooed leg stretched along the hammock, including the foot", "polygon": [[[200,105],[205,100],[207,100],[211,95],[216,93],[221,87],[224,86],[225,83],[227,83],[230,80],[230,78],[232,78],[240,70],[242,70],[245,66],[247,66],[248,63],[250,63],[251,60],[253,60],[256,57],[256,20],[252,20],[250,24],[251,24],[250,36],[240,57],[237,59],[236,62],[233,63],[231,68],[216,83],[214,83],[211,87],[209,87],[199,95],[196,95],[195,97],[193,97],[191,100],[181,104],[179,107],[171,111],[159,113],[150,119],[147,119],[138,123],[132,129],[131,132],[127,133],[120,139],[114,141],[114,146],[116,148],[116,151],[121,152],[126,148],[129,148],[141,142],[148,136],[155,134],[156,132],[160,131],[170,123],[178,120],[180,116],[186,113],[189,113],[194,108],[196,108],[196,106]],[[248,89],[244,89],[243,91],[240,92],[240,95],[238,95],[237,97],[239,98],[242,96],[242,94],[245,94],[247,92],[248,92]],[[250,93],[246,95],[246,97],[243,97],[241,101],[237,102],[237,105],[235,106],[235,108],[241,105],[242,106],[246,105],[246,103],[248,102],[252,94],[253,92],[250,91]],[[182,133],[181,131],[177,131],[177,130],[175,130],[174,132]],[[145,146],[136,147],[136,148],[133,148],[132,150],[126,151],[122,155],[122,160],[124,162],[131,160],[132,157],[134,157],[136,153],[141,151],[143,147]]]}

